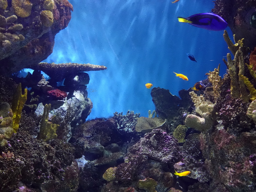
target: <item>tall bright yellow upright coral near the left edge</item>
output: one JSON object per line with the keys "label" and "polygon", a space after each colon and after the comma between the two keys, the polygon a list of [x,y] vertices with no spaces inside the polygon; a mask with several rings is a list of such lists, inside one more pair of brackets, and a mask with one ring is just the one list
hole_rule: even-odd
{"label": "tall bright yellow upright coral near the left edge", "polygon": [[19,120],[21,118],[22,109],[27,101],[28,90],[24,89],[24,94],[22,94],[21,83],[18,84],[16,91],[13,95],[12,101],[12,111],[13,111],[13,130],[16,133],[19,129]]}

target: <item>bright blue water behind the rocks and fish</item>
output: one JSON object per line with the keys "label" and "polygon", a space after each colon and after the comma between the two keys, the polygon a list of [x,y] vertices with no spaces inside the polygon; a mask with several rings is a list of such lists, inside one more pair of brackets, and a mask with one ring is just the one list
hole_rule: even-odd
{"label": "bright blue water behind the rocks and fish", "polygon": [[[68,27],[55,37],[53,53],[45,62],[91,63],[104,71],[89,71],[88,97],[93,109],[88,119],[133,110],[148,116],[154,110],[146,83],[178,95],[217,68],[226,72],[227,44],[223,31],[208,31],[179,23],[177,17],[211,12],[210,0],[172,4],[169,0],[69,0],[74,12]],[[229,28],[228,33],[232,36]],[[189,60],[186,53],[197,60]],[[188,81],[173,73],[187,75]],[[152,88],[153,88],[152,87]]]}

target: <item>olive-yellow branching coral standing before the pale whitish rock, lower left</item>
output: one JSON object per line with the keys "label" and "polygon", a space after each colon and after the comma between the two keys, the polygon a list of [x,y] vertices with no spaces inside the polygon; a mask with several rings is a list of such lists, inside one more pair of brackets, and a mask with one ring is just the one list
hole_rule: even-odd
{"label": "olive-yellow branching coral standing before the pale whitish rock, lower left", "polygon": [[[53,124],[52,122],[48,121],[49,117],[49,111],[51,109],[51,104],[47,105],[45,104],[44,107],[44,113],[42,115],[42,121],[40,126],[40,132],[39,132],[39,139],[42,139],[44,141],[49,141],[51,139],[54,139],[57,137],[56,130],[58,129],[59,125]],[[55,116],[52,118],[52,121],[54,121]]]}

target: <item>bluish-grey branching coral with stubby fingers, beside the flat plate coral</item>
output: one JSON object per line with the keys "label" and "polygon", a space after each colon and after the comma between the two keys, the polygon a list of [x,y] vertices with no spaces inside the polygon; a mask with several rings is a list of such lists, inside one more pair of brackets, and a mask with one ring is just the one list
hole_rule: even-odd
{"label": "bluish-grey branching coral with stubby fingers, beside the flat plate coral", "polygon": [[134,114],[134,111],[128,110],[126,115],[123,115],[123,112],[115,112],[113,119],[116,121],[118,125],[118,130],[127,133],[133,133],[135,131],[135,126],[137,124],[137,119],[139,116],[140,113]]}

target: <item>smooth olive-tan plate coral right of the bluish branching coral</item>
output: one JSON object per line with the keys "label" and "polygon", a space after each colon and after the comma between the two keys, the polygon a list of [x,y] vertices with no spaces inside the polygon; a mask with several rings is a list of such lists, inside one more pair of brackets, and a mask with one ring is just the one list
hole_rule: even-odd
{"label": "smooth olive-tan plate coral right of the bluish branching coral", "polygon": [[154,118],[139,117],[137,119],[137,124],[135,126],[136,132],[147,133],[147,132],[151,132],[153,129],[166,130],[166,120],[164,121],[160,117],[154,117]]}

